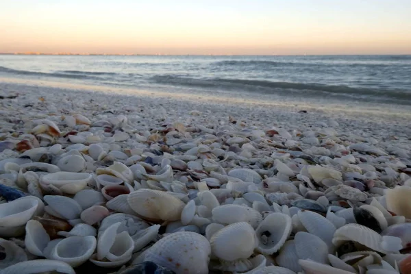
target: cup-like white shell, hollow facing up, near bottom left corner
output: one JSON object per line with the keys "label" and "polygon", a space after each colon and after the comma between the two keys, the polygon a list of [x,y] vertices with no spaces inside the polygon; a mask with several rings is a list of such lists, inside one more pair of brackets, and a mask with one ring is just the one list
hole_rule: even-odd
{"label": "cup-like white shell, hollow facing up, near bottom left corner", "polygon": [[71,236],[57,243],[51,250],[53,260],[79,266],[88,260],[97,246],[94,236]]}

